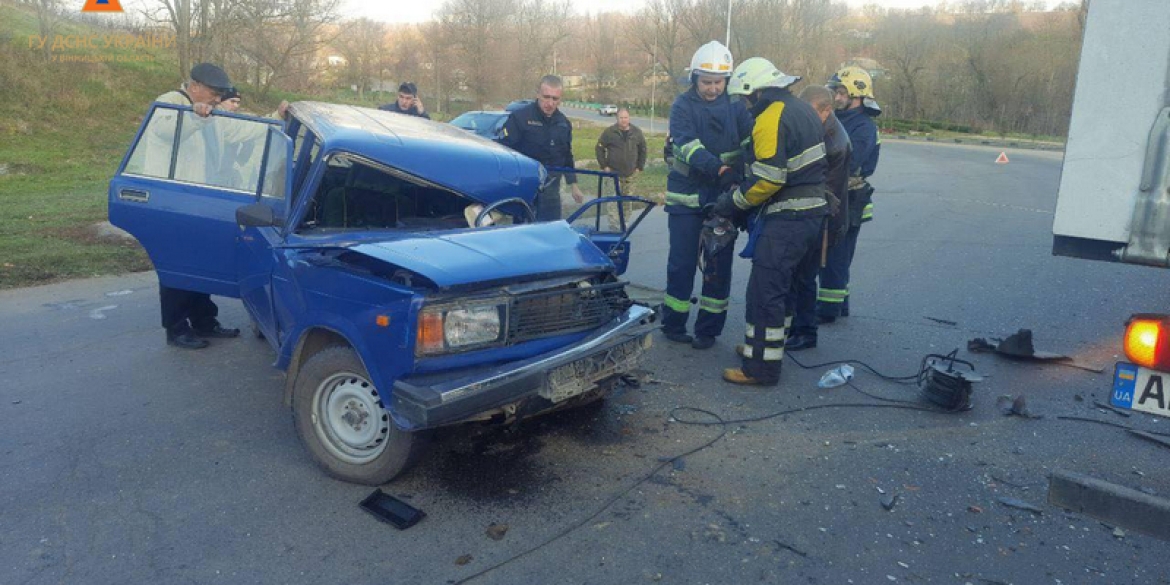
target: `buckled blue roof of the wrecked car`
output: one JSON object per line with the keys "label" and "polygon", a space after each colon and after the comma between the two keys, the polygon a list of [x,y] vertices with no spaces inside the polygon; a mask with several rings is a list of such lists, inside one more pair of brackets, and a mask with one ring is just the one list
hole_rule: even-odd
{"label": "buckled blue roof of the wrecked car", "polygon": [[450,124],[322,102],[296,102],[290,112],[323,152],[351,152],[481,201],[526,198],[539,185],[539,163]]}

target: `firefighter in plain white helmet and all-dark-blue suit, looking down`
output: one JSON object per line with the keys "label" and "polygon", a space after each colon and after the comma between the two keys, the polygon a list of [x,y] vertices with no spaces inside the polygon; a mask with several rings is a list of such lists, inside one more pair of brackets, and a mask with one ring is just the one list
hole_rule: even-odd
{"label": "firefighter in plain white helmet and all-dark-blue suit, looking down", "polygon": [[720,193],[743,177],[742,140],[751,132],[751,116],[725,94],[734,63],[731,51],[711,41],[690,58],[690,88],[670,106],[674,161],[667,177],[666,212],[670,233],[662,332],[675,343],[710,349],[723,332],[731,291],[734,249],[722,249],[709,263],[698,296],[695,335],[687,333],[690,294],[698,263],[700,233],[707,209]]}

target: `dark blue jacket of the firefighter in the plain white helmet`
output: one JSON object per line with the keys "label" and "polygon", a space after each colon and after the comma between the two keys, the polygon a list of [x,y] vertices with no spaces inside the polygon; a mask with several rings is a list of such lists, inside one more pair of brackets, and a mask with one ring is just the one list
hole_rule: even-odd
{"label": "dark blue jacket of the firefighter in the plain white helmet", "polygon": [[720,197],[720,167],[739,171],[742,147],[751,137],[751,115],[727,94],[708,102],[695,87],[670,106],[674,163],[666,179],[667,213],[700,213]]}

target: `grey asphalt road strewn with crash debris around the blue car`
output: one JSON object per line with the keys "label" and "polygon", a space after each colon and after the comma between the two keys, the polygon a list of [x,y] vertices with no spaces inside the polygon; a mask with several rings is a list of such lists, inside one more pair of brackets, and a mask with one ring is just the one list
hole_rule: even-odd
{"label": "grey asphalt road strewn with crash debris around the blue car", "polygon": [[[743,419],[889,404],[819,390],[824,369],[792,362],[775,390],[720,381],[743,335],[741,261],[714,350],[659,337],[646,364],[658,381],[514,429],[440,438],[385,487],[428,514],[405,532],[358,508],[369,488],[314,467],[264,343],[163,343],[151,274],[0,292],[0,581],[450,583],[564,535],[472,583],[1168,583],[1164,542],[1045,504],[1057,468],[1170,495],[1159,447],[1055,419],[1170,427],[1092,406],[1108,400],[1129,314],[1166,309],[1166,274],[1051,256],[1059,154],[1009,152],[996,165],[997,153],[885,145],[853,316],[797,355],[908,374],[923,355],[958,347],[987,376],[972,411],[842,406],[736,422],[641,481],[659,457],[718,436],[673,422],[676,406]],[[663,214],[634,246],[631,278],[661,287]],[[246,324],[238,303],[221,307],[227,324]],[[1107,371],[965,351],[1019,328]],[[914,399],[867,373],[855,381]],[[1000,415],[1000,394],[1025,394],[1045,418]],[[501,541],[484,535],[491,523],[508,525]]]}

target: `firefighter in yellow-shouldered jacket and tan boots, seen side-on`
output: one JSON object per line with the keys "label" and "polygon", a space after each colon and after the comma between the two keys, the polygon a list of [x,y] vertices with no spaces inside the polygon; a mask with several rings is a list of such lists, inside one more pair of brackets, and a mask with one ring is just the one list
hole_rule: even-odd
{"label": "firefighter in yellow-shouldered jacket and tan boots, seen side-on", "polygon": [[742,367],[723,371],[732,384],[775,386],[796,300],[799,266],[818,249],[830,213],[825,191],[824,126],[804,99],[787,88],[800,77],[752,57],[736,68],[728,92],[744,96],[755,125],[746,150],[748,177],[720,195],[715,214],[755,212],[744,255],[751,257]]}

